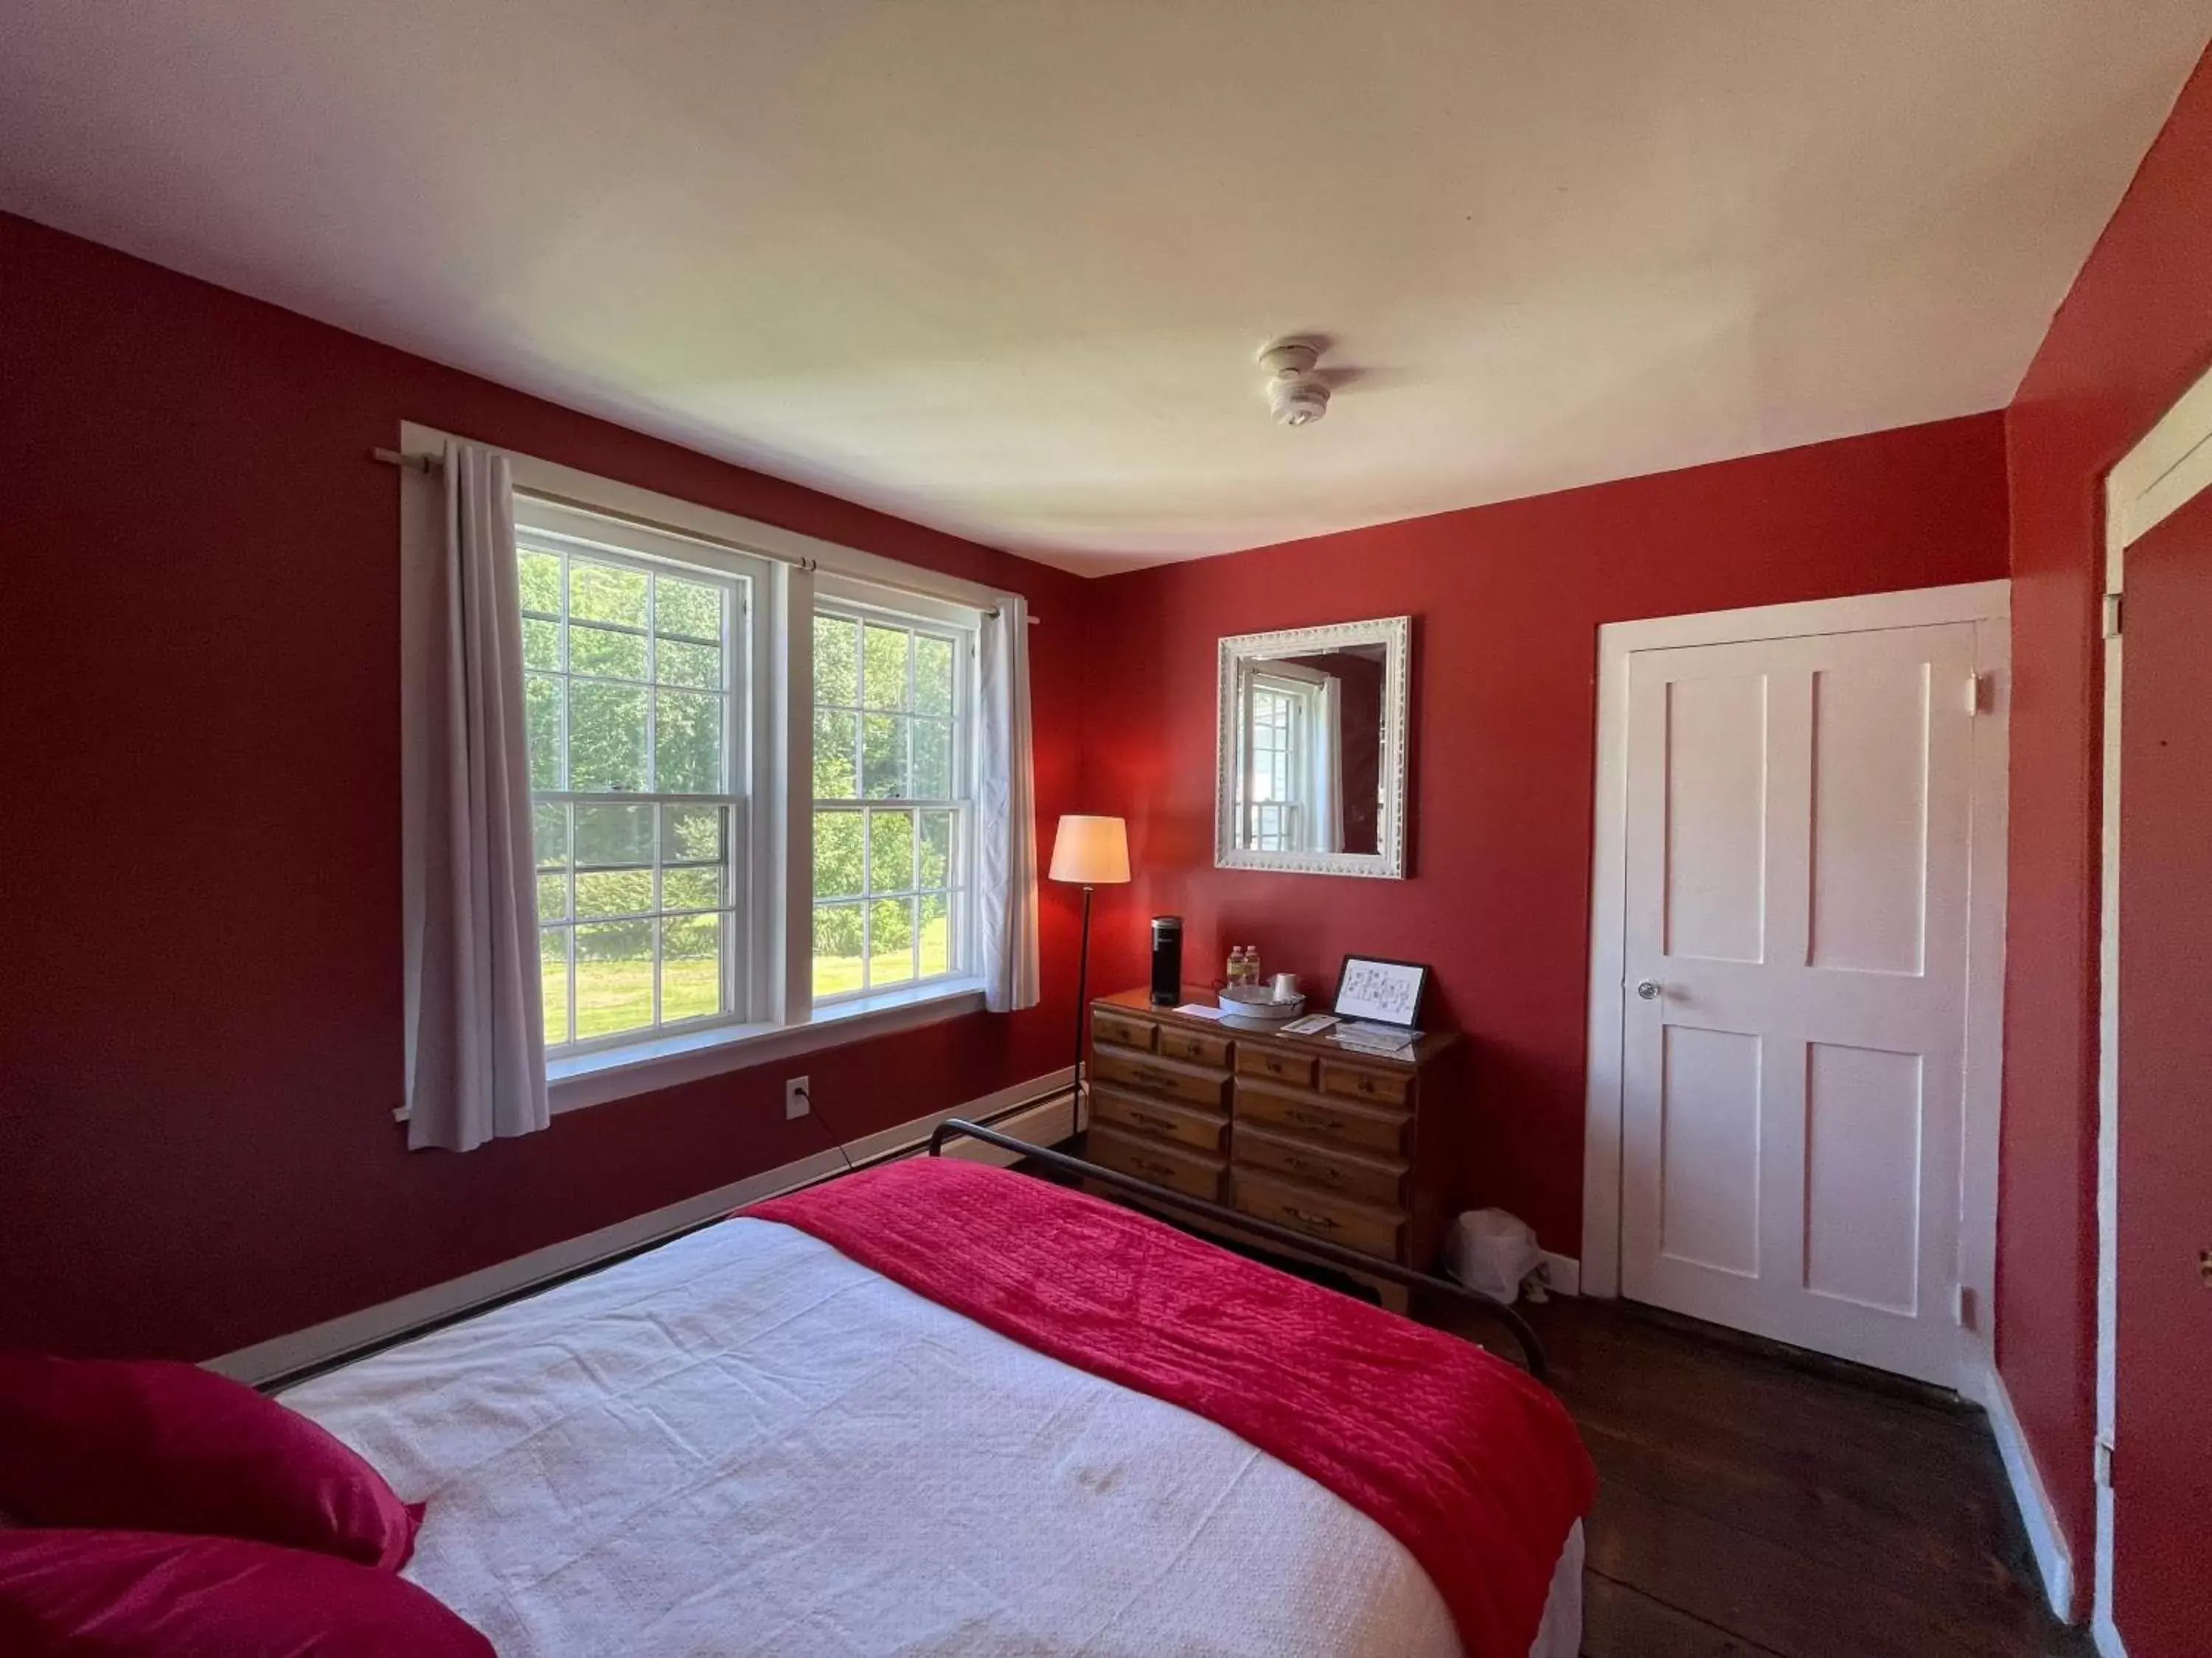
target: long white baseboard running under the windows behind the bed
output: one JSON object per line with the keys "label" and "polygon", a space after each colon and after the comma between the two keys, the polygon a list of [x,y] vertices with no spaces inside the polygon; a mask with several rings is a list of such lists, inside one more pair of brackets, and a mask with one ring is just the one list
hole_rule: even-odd
{"label": "long white baseboard running under the windows behind the bed", "polygon": [[[812,1156],[799,1158],[796,1163],[783,1163],[781,1167],[763,1169],[761,1174],[752,1174],[743,1180],[719,1185],[712,1192],[701,1192],[697,1198],[670,1203],[666,1209],[653,1209],[648,1214],[619,1220],[613,1227],[586,1231],[582,1238],[546,1245],[544,1249],[533,1249],[526,1256],[502,1260],[495,1267],[449,1278],[442,1284],[431,1284],[429,1289],[418,1289],[389,1302],[378,1302],[376,1307],[363,1307],[358,1313],[345,1313],[341,1318],[325,1320],[323,1324],[310,1324],[303,1331],[292,1331],[290,1335],[276,1335],[268,1342],[241,1346],[237,1353],[223,1353],[221,1357],[208,1360],[206,1368],[219,1371],[237,1382],[259,1384],[270,1377],[305,1371],[314,1364],[330,1364],[345,1353],[374,1346],[376,1342],[389,1342],[394,1335],[403,1335],[405,1331],[422,1324],[467,1313],[471,1307],[482,1307],[484,1302],[515,1295],[533,1284],[564,1278],[573,1271],[591,1267],[597,1260],[608,1260],[611,1256],[641,1249],[659,1242],[661,1238],[672,1238],[679,1231],[688,1231],[690,1227],[726,1216],[730,1209],[739,1209],[748,1203],[761,1203],[779,1192],[825,1180],[832,1174],[843,1172],[845,1158],[852,1158],[854,1163],[874,1163],[887,1156],[920,1152],[929,1143],[931,1130],[936,1130],[936,1125],[947,1116],[984,1119],[1024,1101],[1035,1101],[1029,1110],[1009,1116],[995,1127],[1035,1145],[1053,1145],[1075,1132],[1068,1112],[1071,1072],[1073,1068],[1064,1066],[1046,1072],[1044,1077],[1031,1077],[1026,1083],[1015,1083],[1013,1088],[1002,1088],[995,1094],[971,1099],[949,1112],[916,1116],[909,1123],[883,1130],[880,1134],[867,1134],[845,1145],[843,1156],[825,1147]],[[557,1127],[553,1132],[557,1132]],[[945,1147],[945,1154],[978,1158],[984,1163],[1013,1163],[1009,1152],[1000,1152],[998,1147],[982,1145],[978,1141],[953,1141]]]}

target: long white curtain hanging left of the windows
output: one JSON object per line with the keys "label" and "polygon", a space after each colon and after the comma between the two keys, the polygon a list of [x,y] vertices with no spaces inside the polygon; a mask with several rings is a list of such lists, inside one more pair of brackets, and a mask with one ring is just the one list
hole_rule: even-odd
{"label": "long white curtain hanging left of the windows", "polygon": [[507,455],[445,453],[438,535],[403,577],[407,1145],[549,1121]]}

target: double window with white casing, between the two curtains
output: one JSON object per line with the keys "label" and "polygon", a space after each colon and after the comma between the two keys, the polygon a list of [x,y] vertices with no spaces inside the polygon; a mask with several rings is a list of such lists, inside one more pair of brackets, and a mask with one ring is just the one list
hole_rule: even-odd
{"label": "double window with white casing, between the two curtains", "polygon": [[[451,442],[403,429],[409,455]],[[553,462],[509,464],[551,1108],[982,1006],[993,595]],[[445,484],[436,462],[403,478],[420,628],[445,579]],[[469,811],[458,827],[409,816],[409,891],[429,882],[425,847],[478,831]],[[993,818],[989,833],[1029,825]],[[504,937],[487,928],[484,948]]]}

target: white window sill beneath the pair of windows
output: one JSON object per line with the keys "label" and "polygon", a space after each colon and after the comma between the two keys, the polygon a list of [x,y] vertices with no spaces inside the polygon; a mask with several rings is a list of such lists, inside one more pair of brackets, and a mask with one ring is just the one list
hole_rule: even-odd
{"label": "white window sill beneath the pair of windows", "polygon": [[546,1063],[546,1094],[557,1116],[586,1105],[604,1105],[611,1099],[650,1094],[701,1077],[721,1077],[765,1066],[772,1059],[792,1059],[980,1010],[982,984],[978,979],[883,990],[816,1008],[803,1026],[723,1026],[555,1059]]}

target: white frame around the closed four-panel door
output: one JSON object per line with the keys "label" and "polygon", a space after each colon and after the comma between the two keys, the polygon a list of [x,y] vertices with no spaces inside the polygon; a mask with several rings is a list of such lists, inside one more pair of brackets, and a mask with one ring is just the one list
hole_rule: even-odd
{"label": "white frame around the closed four-panel door", "polygon": [[[1597,630],[1597,798],[1590,838],[1588,1088],[1582,1156],[1582,1293],[1621,1293],[1621,990],[1628,924],[1628,659],[1644,650],[1973,623],[1973,827],[1966,851],[1966,1041],[1953,1318],[1960,1384],[1993,1362],[1997,1121],[2004,1101],[2004,825],[2013,584],[1865,592],[1847,599],[1608,621]],[[1962,685],[1958,694],[1966,694]]]}

